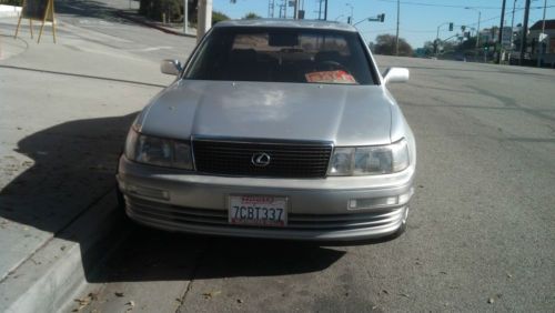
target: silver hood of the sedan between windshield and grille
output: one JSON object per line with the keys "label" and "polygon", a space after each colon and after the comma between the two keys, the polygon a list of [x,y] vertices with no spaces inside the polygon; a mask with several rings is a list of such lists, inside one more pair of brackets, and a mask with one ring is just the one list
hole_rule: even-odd
{"label": "silver hood of the sedan between windshield and grille", "polygon": [[174,139],[386,144],[392,105],[379,85],[181,80],[157,95],[138,122],[143,133]]}

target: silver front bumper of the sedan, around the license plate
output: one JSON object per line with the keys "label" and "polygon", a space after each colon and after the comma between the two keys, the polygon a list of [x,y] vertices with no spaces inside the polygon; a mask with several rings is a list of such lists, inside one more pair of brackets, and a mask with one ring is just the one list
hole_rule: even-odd
{"label": "silver front bumper of the sedan, around the license plate", "polygon": [[[414,168],[382,176],[253,179],[199,175],[150,166],[121,156],[118,183],[127,214],[158,229],[228,236],[363,240],[395,233],[405,222]],[[286,228],[228,223],[229,195],[287,198]],[[384,199],[397,199],[385,203]],[[366,203],[352,206],[352,200]],[[370,203],[370,204],[369,204]]]}

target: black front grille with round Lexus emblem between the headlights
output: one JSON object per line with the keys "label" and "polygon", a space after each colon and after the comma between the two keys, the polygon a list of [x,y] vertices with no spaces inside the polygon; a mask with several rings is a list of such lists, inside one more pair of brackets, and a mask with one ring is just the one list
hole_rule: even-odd
{"label": "black front grille with round Lexus emblem between the headlights", "polygon": [[[196,171],[208,174],[325,178],[332,145],[324,143],[270,143],[193,140]],[[256,166],[255,153],[270,155],[270,163]]]}

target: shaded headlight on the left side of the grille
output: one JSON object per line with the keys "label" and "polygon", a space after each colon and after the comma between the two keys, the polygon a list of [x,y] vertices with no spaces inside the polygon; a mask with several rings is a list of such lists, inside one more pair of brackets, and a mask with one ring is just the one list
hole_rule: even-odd
{"label": "shaded headlight on the left side of the grille", "polygon": [[145,164],[185,170],[193,169],[189,143],[141,134],[133,127],[125,140],[125,156],[129,160]]}

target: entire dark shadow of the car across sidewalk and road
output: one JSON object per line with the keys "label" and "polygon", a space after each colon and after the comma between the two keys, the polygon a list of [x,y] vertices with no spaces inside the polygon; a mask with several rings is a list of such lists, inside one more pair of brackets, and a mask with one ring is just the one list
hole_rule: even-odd
{"label": "entire dark shadow of the car across sidewalk and road", "polygon": [[[32,162],[26,161],[30,166],[1,190],[0,218],[52,233],[54,238],[78,241],[65,230],[84,212],[95,210],[93,203],[113,192],[118,158],[135,115],[70,121],[20,140],[16,152]],[[316,243],[167,233],[134,225],[122,215],[113,240],[121,238],[120,230],[130,230],[131,235],[113,256],[107,258],[105,266],[98,266],[105,244],[95,251],[82,251],[87,252],[81,254],[89,282],[317,272],[345,253]],[[17,233],[22,235],[23,232]],[[40,248],[40,242],[36,248]]]}

